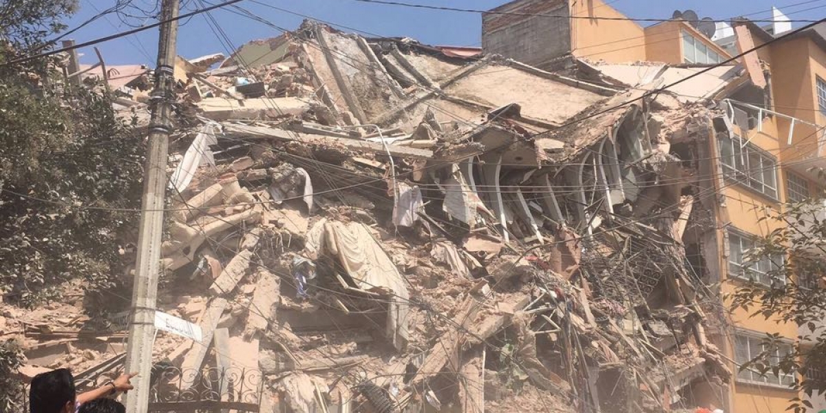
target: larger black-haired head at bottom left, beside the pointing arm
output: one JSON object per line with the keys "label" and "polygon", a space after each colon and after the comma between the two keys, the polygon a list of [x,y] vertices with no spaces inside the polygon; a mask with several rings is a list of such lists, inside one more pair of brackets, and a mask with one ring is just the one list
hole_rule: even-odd
{"label": "larger black-haired head at bottom left, beside the pointing arm", "polygon": [[40,373],[31,379],[30,413],[58,413],[66,403],[74,405],[74,377],[68,368]]}

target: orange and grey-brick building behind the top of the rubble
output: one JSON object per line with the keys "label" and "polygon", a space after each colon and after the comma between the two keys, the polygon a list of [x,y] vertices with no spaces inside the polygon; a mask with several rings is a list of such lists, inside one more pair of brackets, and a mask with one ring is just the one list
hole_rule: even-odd
{"label": "orange and grey-brick building behind the top of the rubble", "polygon": [[672,20],[643,28],[625,18],[601,0],[515,0],[483,15],[482,50],[540,69],[571,58],[709,64],[730,57],[695,23]]}

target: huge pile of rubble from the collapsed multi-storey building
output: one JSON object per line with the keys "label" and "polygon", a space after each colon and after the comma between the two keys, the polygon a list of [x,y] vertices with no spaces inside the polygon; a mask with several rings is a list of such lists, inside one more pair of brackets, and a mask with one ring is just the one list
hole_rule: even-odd
{"label": "huge pile of rubble from the collapsed multi-storey building", "polygon": [[203,337],[157,361],[259,369],[260,411],[669,411],[729,380],[713,110],[312,21],[218,59],[176,71],[159,292]]}

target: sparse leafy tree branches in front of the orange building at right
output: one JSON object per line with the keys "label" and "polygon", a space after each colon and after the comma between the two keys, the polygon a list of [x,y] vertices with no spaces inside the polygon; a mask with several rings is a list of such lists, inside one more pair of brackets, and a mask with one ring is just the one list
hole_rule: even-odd
{"label": "sparse leafy tree branches in front of the orange building at right", "polygon": [[[768,275],[775,280],[771,286],[748,282],[739,287],[730,299],[735,308],[749,311],[753,317],[776,320],[799,326],[799,336],[790,353],[776,356],[781,348],[779,335],[767,335],[764,351],[741,370],[751,368],[762,374],[799,374],[792,387],[808,396],[826,392],[826,220],[822,202],[788,204],[784,211],[764,220],[781,224],[765,237],[757,239],[756,247],[746,254],[748,263],[761,259],[786,257]],[[785,281],[784,281],[785,280]],[[787,345],[787,344],[786,344]],[[802,413],[811,403],[795,398],[790,410]]]}

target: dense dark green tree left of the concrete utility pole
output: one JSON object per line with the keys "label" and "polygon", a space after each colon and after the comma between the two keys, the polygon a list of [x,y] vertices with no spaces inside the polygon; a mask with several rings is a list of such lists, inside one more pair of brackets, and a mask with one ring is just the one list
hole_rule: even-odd
{"label": "dense dark green tree left of the concrete utility pole", "polygon": [[[76,0],[0,2],[0,62],[36,53]],[[144,145],[106,96],[64,88],[55,60],[0,66],[0,293],[32,305],[83,277],[111,288],[140,208]]]}

